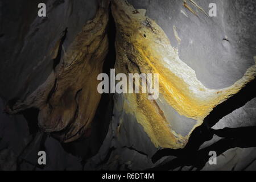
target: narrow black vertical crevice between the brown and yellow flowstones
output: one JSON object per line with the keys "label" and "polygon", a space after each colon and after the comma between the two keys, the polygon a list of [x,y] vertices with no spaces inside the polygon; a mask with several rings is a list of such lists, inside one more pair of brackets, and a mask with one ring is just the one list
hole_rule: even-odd
{"label": "narrow black vertical crevice between the brown and yellow flowstones", "polygon": [[[115,64],[116,33],[114,18],[110,10],[109,23],[106,31],[108,32],[109,51],[104,61],[102,73],[106,73],[110,77],[110,69],[114,68]],[[83,159],[83,163],[97,154],[106,134],[108,133],[109,123],[113,115],[113,96],[114,94],[101,94],[101,100],[92,121],[90,137],[84,136],[74,142],[62,144],[65,151],[72,155],[81,157]]]}

